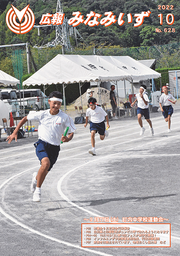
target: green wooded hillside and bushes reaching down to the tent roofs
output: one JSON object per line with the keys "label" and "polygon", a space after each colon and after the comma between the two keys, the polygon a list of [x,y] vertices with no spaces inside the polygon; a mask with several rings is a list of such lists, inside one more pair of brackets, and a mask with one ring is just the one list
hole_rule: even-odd
{"label": "green wooded hillside and bushes reaching down to the tent roofs", "polygon": [[[57,0],[0,0],[0,45],[21,44],[28,42],[31,46],[31,53],[37,70],[44,66],[57,54],[62,54],[61,46],[53,48],[41,47],[55,39],[55,26],[43,27],[40,29],[40,36],[37,28],[31,29],[24,35],[17,35],[11,32],[6,25],[6,14],[11,8],[11,3],[19,10],[30,4],[35,15],[35,24],[43,14],[56,13]],[[136,60],[156,59],[156,67],[166,69],[176,69],[180,67],[180,6],[178,0],[170,0],[167,4],[165,0],[62,0],[62,7],[65,17],[68,20],[73,17],[73,12],[81,12],[84,15],[91,11],[104,16],[104,12],[113,12],[118,20],[119,14],[123,13],[124,23],[122,26],[118,21],[105,27],[88,26],[79,24],[78,29],[82,38],[76,39],[71,36],[70,42],[73,47],[72,52],[66,54],[92,55],[93,47],[96,48],[97,55],[129,55]],[[136,23],[135,14],[150,11],[149,17],[145,17],[141,26],[134,26]],[[132,15],[132,22],[128,23],[127,15]],[[160,17],[158,17],[158,15]],[[167,16],[173,15],[173,25],[168,25]],[[162,20],[160,18],[162,17]],[[91,19],[93,20],[93,18]],[[168,21],[171,22],[172,16]],[[160,25],[160,21],[163,23]],[[156,28],[162,32],[156,32]],[[16,76],[12,58],[14,50],[21,49],[23,53],[23,76],[27,78],[27,60],[25,47],[0,48],[0,70]],[[32,72],[35,72],[31,66]],[[18,77],[17,77],[18,78]]]}

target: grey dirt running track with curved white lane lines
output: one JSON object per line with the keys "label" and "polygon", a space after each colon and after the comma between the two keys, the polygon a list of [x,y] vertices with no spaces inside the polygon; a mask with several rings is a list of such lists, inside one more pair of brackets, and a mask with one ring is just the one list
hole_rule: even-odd
{"label": "grey dirt running track with curved white lane lines", "polygon": [[[180,110],[172,132],[160,112],[152,113],[155,135],[139,136],[137,117],[110,122],[109,137],[76,125],[42,186],[42,202],[32,201],[32,173],[39,168],[33,137],[0,143],[1,256],[177,256],[180,252]],[[95,216],[163,217],[171,223],[171,247],[81,247],[81,224]]]}

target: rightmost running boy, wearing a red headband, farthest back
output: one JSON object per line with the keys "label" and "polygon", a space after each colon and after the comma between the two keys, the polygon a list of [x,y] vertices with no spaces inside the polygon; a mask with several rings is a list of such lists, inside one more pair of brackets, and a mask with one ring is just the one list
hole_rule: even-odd
{"label": "rightmost running boy, wearing a red headband, farthest back", "polygon": [[170,93],[168,93],[167,86],[163,86],[162,91],[163,91],[163,94],[160,96],[160,101],[159,101],[160,110],[163,112],[165,121],[168,122],[168,132],[171,132],[170,127],[171,127],[171,116],[173,113],[173,107],[171,105],[172,101],[170,100],[171,99],[173,100],[172,102],[173,104],[176,103],[176,100]]}

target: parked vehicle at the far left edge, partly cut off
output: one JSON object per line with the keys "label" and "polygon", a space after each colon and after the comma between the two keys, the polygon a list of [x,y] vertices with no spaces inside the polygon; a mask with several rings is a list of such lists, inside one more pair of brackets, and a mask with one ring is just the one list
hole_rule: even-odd
{"label": "parked vehicle at the far left edge, partly cut off", "polygon": [[9,113],[16,113],[20,111],[18,104],[16,90],[0,89],[0,99],[6,104]]}

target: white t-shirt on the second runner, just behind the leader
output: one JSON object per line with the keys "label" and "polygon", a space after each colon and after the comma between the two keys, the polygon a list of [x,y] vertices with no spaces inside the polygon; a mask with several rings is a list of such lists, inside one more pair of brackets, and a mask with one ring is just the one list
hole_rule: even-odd
{"label": "white t-shirt on the second runner, just behind the leader", "polygon": [[88,108],[86,111],[86,116],[90,116],[91,122],[97,124],[104,121],[104,117],[107,116],[107,113],[101,107],[96,106],[94,110]]}

